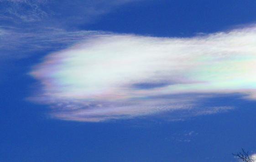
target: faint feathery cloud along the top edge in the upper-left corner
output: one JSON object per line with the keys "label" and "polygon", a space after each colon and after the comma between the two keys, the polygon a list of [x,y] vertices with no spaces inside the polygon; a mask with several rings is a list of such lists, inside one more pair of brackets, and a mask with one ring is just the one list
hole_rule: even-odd
{"label": "faint feathery cloud along the top edge in the upper-left corner", "polygon": [[[0,19],[51,25],[93,22],[97,16],[136,0],[0,0]],[[42,24],[41,24],[42,25]]]}

